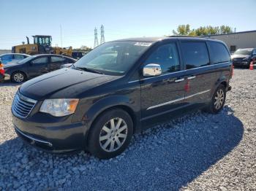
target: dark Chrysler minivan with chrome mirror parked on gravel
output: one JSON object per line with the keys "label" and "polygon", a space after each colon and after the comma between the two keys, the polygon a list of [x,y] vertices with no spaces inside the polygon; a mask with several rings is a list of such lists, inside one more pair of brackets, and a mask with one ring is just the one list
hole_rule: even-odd
{"label": "dark Chrysler minivan with chrome mirror parked on gravel", "polygon": [[15,131],[49,152],[85,149],[107,159],[134,133],[194,109],[218,113],[232,62],[215,39],[170,36],[106,42],[70,68],[20,86]]}

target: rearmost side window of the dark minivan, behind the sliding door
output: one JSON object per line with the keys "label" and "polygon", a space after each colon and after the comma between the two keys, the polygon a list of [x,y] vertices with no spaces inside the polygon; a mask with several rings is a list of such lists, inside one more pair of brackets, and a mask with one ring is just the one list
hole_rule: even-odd
{"label": "rearmost side window of the dark minivan, behind the sliding door", "polygon": [[210,48],[211,63],[223,63],[230,61],[227,48],[219,42],[208,42]]}

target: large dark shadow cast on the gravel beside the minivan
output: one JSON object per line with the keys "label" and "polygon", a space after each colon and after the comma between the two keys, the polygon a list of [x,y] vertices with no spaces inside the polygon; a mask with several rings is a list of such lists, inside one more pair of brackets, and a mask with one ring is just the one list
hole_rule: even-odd
{"label": "large dark shadow cast on the gravel beside the minivan", "polygon": [[[29,180],[30,188],[42,190],[179,190],[231,152],[243,133],[241,120],[225,106],[216,115],[194,112],[135,135],[126,152],[111,160],[85,152],[52,155],[16,138],[0,145],[0,182]],[[34,181],[37,173],[42,185]]]}

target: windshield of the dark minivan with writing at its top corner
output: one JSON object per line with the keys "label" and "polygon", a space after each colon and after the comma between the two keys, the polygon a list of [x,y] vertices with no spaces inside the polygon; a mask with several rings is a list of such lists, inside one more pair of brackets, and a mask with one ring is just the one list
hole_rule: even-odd
{"label": "windshield of the dark minivan with writing at its top corner", "polygon": [[124,75],[152,42],[106,42],[84,55],[73,69]]}

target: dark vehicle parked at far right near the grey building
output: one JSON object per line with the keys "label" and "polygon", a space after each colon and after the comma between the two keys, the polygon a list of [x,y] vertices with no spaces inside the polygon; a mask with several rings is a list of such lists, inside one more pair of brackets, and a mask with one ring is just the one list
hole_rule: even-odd
{"label": "dark vehicle parked at far right near the grey building", "polygon": [[249,64],[253,61],[256,63],[256,48],[242,48],[236,50],[236,52],[231,55],[234,66],[244,66],[249,68]]}

